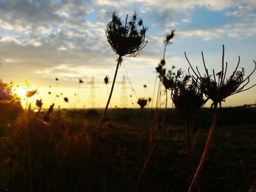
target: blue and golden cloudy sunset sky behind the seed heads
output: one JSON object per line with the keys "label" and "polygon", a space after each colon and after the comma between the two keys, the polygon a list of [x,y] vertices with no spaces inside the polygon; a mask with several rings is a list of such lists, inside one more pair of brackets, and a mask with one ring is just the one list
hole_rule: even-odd
{"label": "blue and golden cloudy sunset sky behind the seed heads", "polygon": [[[222,45],[227,73],[235,69],[238,55],[246,74],[254,68],[255,0],[0,0],[1,80],[19,85],[15,91],[20,96],[29,82],[29,88],[38,92],[34,99],[42,99],[44,107],[52,102],[61,107],[105,107],[118,58],[105,36],[113,11],[121,18],[138,12],[148,26],[148,43],[139,57],[123,58],[111,107],[139,107],[139,97],[153,97],[155,67],[162,59],[165,34],[173,29],[176,35],[165,55],[167,69],[174,65],[187,72],[186,51],[192,65],[203,72],[203,51],[208,69],[218,71]],[[255,82],[253,74],[250,84]],[[252,88],[230,96],[222,106],[255,104],[255,96]],[[168,106],[172,107],[170,99]]]}

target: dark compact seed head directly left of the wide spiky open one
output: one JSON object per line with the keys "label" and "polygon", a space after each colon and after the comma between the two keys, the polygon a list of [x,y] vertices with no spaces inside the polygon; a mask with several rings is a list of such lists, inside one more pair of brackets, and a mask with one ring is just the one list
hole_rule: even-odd
{"label": "dark compact seed head directly left of the wide spiky open one", "polygon": [[195,86],[189,75],[181,77],[183,72],[178,70],[176,80],[173,83],[171,98],[173,104],[185,120],[197,118],[199,110],[206,101],[203,99],[203,93]]}

